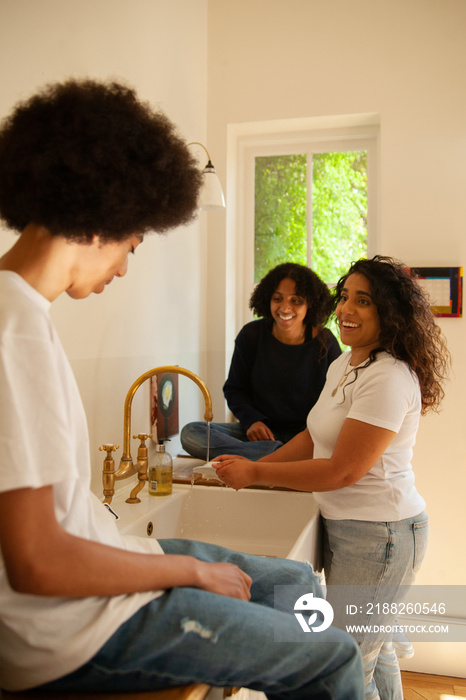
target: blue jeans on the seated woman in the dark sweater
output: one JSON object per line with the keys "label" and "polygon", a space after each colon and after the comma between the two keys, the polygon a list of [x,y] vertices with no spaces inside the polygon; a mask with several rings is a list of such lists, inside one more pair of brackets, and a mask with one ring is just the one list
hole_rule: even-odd
{"label": "blue jeans on the seated woman in the dark sweater", "polygon": [[[281,437],[281,436],[276,436]],[[293,436],[281,440],[248,440],[240,423],[211,423],[209,459],[219,455],[241,455],[247,459],[260,459],[275,452],[284,442]],[[183,449],[193,457],[207,459],[207,424],[203,421],[188,423],[180,435]]]}

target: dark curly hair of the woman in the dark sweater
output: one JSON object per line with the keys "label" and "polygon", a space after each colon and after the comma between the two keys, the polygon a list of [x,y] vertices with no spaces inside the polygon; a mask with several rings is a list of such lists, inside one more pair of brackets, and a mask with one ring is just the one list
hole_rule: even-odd
{"label": "dark curly hair of the woman in the dark sweater", "polygon": [[249,300],[249,308],[256,316],[272,318],[270,300],[280,282],[291,279],[296,285],[296,294],[307,302],[304,323],[308,327],[322,328],[328,321],[333,300],[327,285],[320,277],[305,265],[287,262],[277,265],[261,279]]}

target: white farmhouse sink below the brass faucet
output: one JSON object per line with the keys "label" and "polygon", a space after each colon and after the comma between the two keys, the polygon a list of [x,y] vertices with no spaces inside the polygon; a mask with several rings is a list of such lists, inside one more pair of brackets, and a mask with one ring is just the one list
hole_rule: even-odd
{"label": "white farmhouse sink below the brass faucet", "polygon": [[319,509],[311,493],[174,484],[170,496],[150,496],[145,488],[141,503],[129,504],[127,491],[111,506],[123,534],[200,540],[320,568]]}

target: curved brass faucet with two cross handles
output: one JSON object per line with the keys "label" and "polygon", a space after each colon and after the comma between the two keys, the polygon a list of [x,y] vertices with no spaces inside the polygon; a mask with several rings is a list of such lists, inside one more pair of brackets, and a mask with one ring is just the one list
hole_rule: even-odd
{"label": "curved brass faucet with two cross handles", "polygon": [[99,450],[105,450],[107,456],[104,459],[104,467],[102,473],[103,480],[103,494],[104,503],[111,503],[112,498],[115,494],[115,481],[120,479],[126,479],[133,474],[138,474],[138,483],[131,491],[129,498],[126,499],[127,503],[140,503],[141,499],[138,498],[137,494],[144,488],[144,483],[147,481],[147,467],[148,467],[148,455],[147,446],[145,441],[151,438],[152,435],[147,435],[146,433],[141,433],[139,435],[133,435],[133,438],[139,438],[141,444],[138,448],[138,459],[136,464],[133,463],[133,458],[131,457],[130,451],[130,436],[131,436],[131,405],[133,403],[133,397],[136,391],[139,389],[141,384],[143,384],[146,379],[150,379],[156,374],[165,374],[165,372],[171,372],[172,374],[182,374],[185,377],[191,379],[195,384],[198,385],[199,389],[202,391],[205,402],[205,413],[204,420],[211,421],[213,418],[212,414],[212,399],[207,389],[206,385],[194,372],[189,369],[184,369],[183,367],[177,366],[167,366],[167,367],[155,367],[155,369],[150,369],[148,372],[141,374],[141,376],[136,379],[136,381],[130,386],[128,393],[126,394],[125,407],[124,407],[124,423],[123,423],[123,454],[120,460],[120,466],[117,471],[115,471],[115,462],[112,457],[112,452],[118,449],[118,445],[105,444],[99,447]]}

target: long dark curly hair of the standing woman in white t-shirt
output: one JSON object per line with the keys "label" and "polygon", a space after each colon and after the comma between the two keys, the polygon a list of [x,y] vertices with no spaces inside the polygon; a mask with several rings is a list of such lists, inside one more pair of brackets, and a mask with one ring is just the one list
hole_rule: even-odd
{"label": "long dark curly hair of the standing woman in white t-shirt", "polygon": [[335,288],[335,306],[347,278],[361,274],[369,281],[380,323],[380,348],[403,360],[419,378],[422,413],[437,411],[444,397],[442,384],[448,376],[450,353],[429,301],[416,282],[415,271],[392,258],[376,255],[354,262]]}

